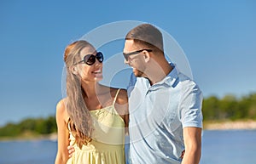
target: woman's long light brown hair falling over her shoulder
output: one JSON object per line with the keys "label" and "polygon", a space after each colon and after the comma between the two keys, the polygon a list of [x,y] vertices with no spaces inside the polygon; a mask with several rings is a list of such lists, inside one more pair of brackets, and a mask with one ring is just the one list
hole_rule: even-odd
{"label": "woman's long light brown hair falling over her shoulder", "polygon": [[73,73],[74,63],[81,60],[80,51],[85,47],[92,47],[89,42],[80,40],[67,46],[64,54],[64,61],[67,67],[67,113],[70,116],[68,121],[69,127],[75,137],[75,143],[81,149],[83,144],[90,142],[92,131],[92,118],[90,111],[87,109],[81,87],[80,76]]}

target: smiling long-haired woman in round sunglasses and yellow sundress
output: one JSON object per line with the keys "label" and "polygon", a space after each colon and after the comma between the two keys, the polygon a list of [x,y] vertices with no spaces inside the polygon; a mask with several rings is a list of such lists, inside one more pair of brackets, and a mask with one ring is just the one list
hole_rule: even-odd
{"label": "smiling long-haired woman in round sunglasses and yellow sundress", "polygon": [[[125,163],[128,100],[124,89],[109,88],[102,80],[103,54],[86,41],[65,49],[67,98],[56,105],[59,163]],[[70,142],[69,142],[70,139]],[[75,152],[68,159],[67,146]]]}

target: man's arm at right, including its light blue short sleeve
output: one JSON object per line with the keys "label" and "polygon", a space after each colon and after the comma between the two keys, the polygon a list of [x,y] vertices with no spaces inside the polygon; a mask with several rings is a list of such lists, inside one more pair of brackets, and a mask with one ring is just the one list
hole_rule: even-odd
{"label": "man's arm at right, including its light blue short sleeve", "polygon": [[201,159],[202,93],[195,82],[183,82],[181,121],[185,153],[182,164],[198,164]]}

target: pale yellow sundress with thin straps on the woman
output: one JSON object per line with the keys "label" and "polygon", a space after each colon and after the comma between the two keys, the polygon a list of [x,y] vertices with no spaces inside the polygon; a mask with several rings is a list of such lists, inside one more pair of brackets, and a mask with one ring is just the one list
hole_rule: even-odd
{"label": "pale yellow sundress with thin straps on the woman", "polygon": [[67,161],[67,164],[125,164],[125,122],[114,108],[119,90],[117,91],[113,105],[90,110],[95,119],[92,140],[89,144],[79,149],[74,144],[74,137],[70,133],[70,144],[75,152]]}

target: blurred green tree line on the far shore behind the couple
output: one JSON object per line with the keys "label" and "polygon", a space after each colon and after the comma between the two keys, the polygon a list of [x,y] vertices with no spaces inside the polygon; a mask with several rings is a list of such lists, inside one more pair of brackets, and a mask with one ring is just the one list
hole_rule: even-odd
{"label": "blurred green tree line on the far shore behind the couple", "polygon": [[[210,96],[203,100],[204,121],[218,120],[256,120],[256,93],[236,98],[226,95],[222,99]],[[0,137],[16,137],[24,132],[49,134],[57,131],[55,116],[48,118],[28,118],[19,123],[8,123],[0,127]]]}

